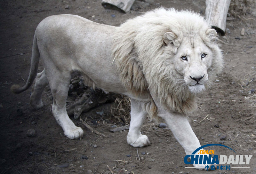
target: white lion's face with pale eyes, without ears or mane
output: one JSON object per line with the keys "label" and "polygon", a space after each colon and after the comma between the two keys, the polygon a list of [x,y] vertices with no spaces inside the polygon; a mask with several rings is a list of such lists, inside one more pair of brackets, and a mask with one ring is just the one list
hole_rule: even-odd
{"label": "white lion's face with pale eyes, without ears or mane", "polygon": [[192,93],[204,90],[208,80],[207,69],[211,62],[212,51],[200,37],[188,37],[183,40],[174,57],[174,67],[184,76],[184,81]]}

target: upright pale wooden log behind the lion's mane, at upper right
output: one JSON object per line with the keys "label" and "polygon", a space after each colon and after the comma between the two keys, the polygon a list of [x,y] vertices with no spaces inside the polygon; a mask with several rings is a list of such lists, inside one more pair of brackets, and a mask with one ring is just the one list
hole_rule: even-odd
{"label": "upright pale wooden log behind the lion's mane, at upper right", "polygon": [[222,36],[225,35],[228,8],[231,0],[206,0],[205,17]]}

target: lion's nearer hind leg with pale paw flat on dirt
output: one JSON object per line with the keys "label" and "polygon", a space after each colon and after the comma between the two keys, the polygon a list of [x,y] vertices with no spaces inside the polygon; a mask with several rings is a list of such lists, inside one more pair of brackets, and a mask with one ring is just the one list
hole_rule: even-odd
{"label": "lion's nearer hind leg with pale paw flat on dirt", "polygon": [[77,139],[84,136],[82,128],[77,127],[68,117],[66,100],[68,97],[68,86],[71,80],[71,73],[58,71],[57,68],[46,72],[52,91],[53,103],[52,114],[57,123],[62,127],[64,134],[70,139]]}

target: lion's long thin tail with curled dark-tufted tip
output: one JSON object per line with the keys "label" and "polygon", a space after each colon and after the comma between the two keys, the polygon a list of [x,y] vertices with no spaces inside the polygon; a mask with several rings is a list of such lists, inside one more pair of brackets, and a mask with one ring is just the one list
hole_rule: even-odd
{"label": "lion's long thin tail with curled dark-tufted tip", "polygon": [[28,75],[28,80],[26,82],[26,84],[22,87],[20,87],[20,85],[18,84],[14,84],[11,87],[11,91],[14,94],[19,94],[23,91],[26,91],[33,83],[35,77],[36,77],[36,72],[37,72],[37,67],[38,67],[38,63],[39,63],[39,50],[37,47],[37,40],[36,40],[36,34],[34,36],[34,41],[33,41],[33,47],[32,47],[32,58],[31,58],[31,64],[30,64],[30,72]]}

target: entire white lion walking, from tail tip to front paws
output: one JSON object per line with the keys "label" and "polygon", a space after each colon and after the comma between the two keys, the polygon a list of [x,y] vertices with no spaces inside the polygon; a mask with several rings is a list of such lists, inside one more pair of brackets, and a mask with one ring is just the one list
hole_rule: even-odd
{"label": "entire white lion walking, from tail tip to front paws", "polygon": [[[159,8],[119,27],[76,15],[50,16],[36,28],[26,85],[11,90],[25,91],[36,78],[30,101],[40,108],[49,83],[56,121],[68,138],[80,138],[83,130],[66,111],[71,73],[79,71],[87,85],[132,98],[130,145],[150,144],[140,129],[147,115],[157,115],[191,154],[201,145],[185,115],[196,107],[195,94],[223,67],[216,37],[203,17],[190,11]],[[36,75],[39,57],[44,70]],[[194,166],[204,170],[205,165]]]}

